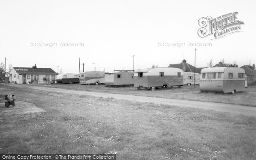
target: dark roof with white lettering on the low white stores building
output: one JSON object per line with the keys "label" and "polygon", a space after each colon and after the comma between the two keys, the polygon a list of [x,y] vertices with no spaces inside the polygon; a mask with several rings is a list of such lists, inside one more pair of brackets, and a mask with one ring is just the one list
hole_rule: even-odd
{"label": "dark roof with white lettering on the low white stores building", "polygon": [[51,68],[29,68],[29,67],[13,67],[15,71],[19,74],[55,74],[57,75],[54,70]]}

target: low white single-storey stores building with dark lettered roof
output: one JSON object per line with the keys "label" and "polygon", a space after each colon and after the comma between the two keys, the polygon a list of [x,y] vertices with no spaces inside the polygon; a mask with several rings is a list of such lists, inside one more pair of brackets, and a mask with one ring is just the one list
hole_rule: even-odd
{"label": "low white single-storey stores building with dark lettered roof", "polygon": [[56,80],[56,73],[51,68],[37,68],[36,65],[28,67],[13,67],[10,72],[11,83],[49,83]]}

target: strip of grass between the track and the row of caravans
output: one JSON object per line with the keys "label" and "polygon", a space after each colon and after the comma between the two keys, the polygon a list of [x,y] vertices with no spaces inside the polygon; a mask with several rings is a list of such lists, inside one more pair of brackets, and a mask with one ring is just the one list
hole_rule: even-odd
{"label": "strip of grass between the track and the row of caravans", "polygon": [[[28,85],[28,84],[25,84]],[[29,84],[31,85],[31,84]],[[119,93],[139,96],[154,96],[171,99],[187,99],[205,102],[229,103],[256,107],[256,86],[249,86],[244,92],[235,94],[205,93],[199,90],[199,86],[183,86],[168,89],[137,90],[135,87],[106,87],[106,85],[80,85],[80,84],[34,84],[40,87],[55,87],[69,90],[84,90],[91,92]]]}

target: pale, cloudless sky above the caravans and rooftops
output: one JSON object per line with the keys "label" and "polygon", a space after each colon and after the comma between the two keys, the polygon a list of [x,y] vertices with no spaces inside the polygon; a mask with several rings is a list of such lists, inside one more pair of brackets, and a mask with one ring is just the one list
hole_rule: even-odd
{"label": "pale, cloudless sky above the caravans and rooftops", "polygon": [[[197,48],[196,67],[223,58],[241,67],[256,63],[255,7],[253,0],[1,0],[0,61],[79,73],[80,58],[84,71],[95,63],[97,71],[112,72],[133,70],[133,55],[135,70],[183,59],[194,66]],[[239,13],[243,32],[198,36],[201,17],[230,12]],[[180,43],[186,45],[167,46]],[[200,43],[211,46],[194,45]]]}

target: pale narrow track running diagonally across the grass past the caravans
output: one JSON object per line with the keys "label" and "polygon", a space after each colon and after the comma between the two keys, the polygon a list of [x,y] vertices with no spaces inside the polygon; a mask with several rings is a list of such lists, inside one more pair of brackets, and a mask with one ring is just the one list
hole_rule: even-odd
{"label": "pale narrow track running diagonally across the grass past the caravans", "polygon": [[147,97],[147,96],[133,96],[133,95],[113,94],[113,93],[97,93],[97,92],[87,92],[87,91],[78,91],[78,90],[65,90],[65,89],[50,88],[50,87],[35,87],[35,86],[21,86],[21,85],[12,85],[12,86],[13,87],[29,87],[32,89],[44,90],[49,92],[98,96],[103,98],[113,97],[114,99],[125,99],[133,102],[134,101],[148,102],[148,103],[151,102],[154,104],[164,104],[164,105],[172,105],[172,106],[178,106],[178,107],[200,108],[200,109],[215,110],[215,111],[221,111],[221,112],[229,112],[232,114],[243,114],[245,116],[256,117],[256,107],[249,107],[249,106],[242,106],[242,105],[189,101],[189,100],[182,100],[182,99],[166,99],[166,98]]}

